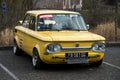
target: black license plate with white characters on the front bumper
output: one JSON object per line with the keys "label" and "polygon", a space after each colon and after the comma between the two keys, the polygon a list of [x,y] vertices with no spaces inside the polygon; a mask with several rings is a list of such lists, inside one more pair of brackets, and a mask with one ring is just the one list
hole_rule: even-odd
{"label": "black license plate with white characters on the front bumper", "polygon": [[66,53],[66,59],[76,59],[76,58],[88,58],[88,53]]}

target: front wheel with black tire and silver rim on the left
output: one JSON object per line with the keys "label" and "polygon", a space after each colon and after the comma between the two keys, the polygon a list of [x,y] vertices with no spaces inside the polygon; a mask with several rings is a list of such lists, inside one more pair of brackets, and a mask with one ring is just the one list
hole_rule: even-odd
{"label": "front wheel with black tire and silver rim on the left", "polygon": [[37,49],[34,49],[32,56],[32,65],[35,69],[43,68],[44,63],[39,57],[39,53]]}

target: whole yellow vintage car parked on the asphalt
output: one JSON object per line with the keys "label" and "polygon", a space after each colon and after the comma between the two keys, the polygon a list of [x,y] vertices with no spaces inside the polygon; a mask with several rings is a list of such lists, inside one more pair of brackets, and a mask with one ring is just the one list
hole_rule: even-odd
{"label": "whole yellow vintage car parked on the asphalt", "polygon": [[31,10],[20,23],[15,26],[13,52],[30,55],[36,69],[43,64],[98,67],[103,62],[105,38],[89,32],[78,12]]}

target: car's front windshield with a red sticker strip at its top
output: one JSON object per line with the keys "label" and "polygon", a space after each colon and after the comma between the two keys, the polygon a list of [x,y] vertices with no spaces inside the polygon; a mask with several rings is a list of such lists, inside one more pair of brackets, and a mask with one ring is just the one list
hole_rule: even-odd
{"label": "car's front windshield with a red sticker strip at its top", "polygon": [[37,30],[87,30],[87,28],[79,14],[42,14],[38,16]]}

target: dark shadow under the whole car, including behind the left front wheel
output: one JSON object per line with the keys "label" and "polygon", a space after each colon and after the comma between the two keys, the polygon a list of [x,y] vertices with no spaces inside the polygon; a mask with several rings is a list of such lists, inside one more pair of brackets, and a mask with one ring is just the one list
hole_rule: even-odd
{"label": "dark shadow under the whole car, including behind the left front wheel", "polygon": [[[43,67],[40,67],[39,69],[34,69],[32,67],[32,60],[31,57],[25,53],[19,56],[21,58],[20,61],[24,61],[24,66],[28,66],[29,70],[38,70],[38,71],[70,71],[70,70],[91,70],[96,69],[96,67],[91,67],[89,64],[45,64]],[[31,66],[31,68],[30,68]]]}

